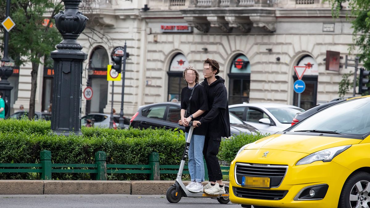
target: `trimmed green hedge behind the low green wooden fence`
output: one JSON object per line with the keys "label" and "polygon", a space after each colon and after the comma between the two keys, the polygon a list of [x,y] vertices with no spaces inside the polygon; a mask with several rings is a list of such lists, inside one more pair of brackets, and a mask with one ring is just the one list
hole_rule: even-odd
{"label": "trimmed green hedge behind the low green wooden fence", "polygon": [[[148,164],[148,155],[155,151],[160,163],[178,165],[185,137],[183,132],[164,129],[113,130],[82,128],[83,136],[51,134],[50,122],[0,120],[0,163],[38,163],[41,150],[51,151],[53,163],[94,163],[94,153],[105,151],[107,164]],[[262,135],[238,135],[221,143],[220,160],[231,161],[245,142]],[[90,180],[90,174],[53,173],[57,180]],[[175,174],[161,174],[161,180],[175,179]],[[0,179],[39,179],[39,174],[0,174]],[[111,180],[147,180],[147,174],[109,174]]]}

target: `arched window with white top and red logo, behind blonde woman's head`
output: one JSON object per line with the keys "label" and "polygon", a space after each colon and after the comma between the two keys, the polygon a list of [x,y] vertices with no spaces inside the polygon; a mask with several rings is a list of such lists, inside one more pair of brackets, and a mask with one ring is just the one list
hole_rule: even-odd
{"label": "arched window with white top and red logo, behind blonde woman's head", "polygon": [[185,68],[189,62],[182,53],[178,53],[172,58],[168,74],[168,100],[181,101],[181,90],[186,87],[186,81],[182,77]]}

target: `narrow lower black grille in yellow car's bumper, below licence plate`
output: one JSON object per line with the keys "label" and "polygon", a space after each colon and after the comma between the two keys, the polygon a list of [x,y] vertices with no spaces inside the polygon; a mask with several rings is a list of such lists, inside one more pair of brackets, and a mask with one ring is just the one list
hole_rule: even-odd
{"label": "narrow lower black grille in yellow car's bumper, below licence plate", "polygon": [[249,188],[232,187],[236,197],[249,199],[280,200],[285,197],[288,191],[260,190]]}

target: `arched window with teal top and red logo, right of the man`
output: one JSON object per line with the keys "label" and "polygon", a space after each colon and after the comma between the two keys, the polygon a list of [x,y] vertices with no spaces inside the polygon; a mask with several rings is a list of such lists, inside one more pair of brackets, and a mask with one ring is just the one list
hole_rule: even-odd
{"label": "arched window with teal top and red logo, right of the man", "polygon": [[238,54],[232,61],[229,76],[229,104],[249,102],[250,63],[249,59]]}

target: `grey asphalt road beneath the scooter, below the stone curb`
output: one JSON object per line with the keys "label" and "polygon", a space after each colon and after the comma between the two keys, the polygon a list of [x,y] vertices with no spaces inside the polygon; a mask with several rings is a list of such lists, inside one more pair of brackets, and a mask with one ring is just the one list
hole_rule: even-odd
{"label": "grey asphalt road beneath the scooter, below the stone curb", "polygon": [[212,207],[212,208],[239,208],[237,204],[219,204],[216,199],[182,198],[178,203],[171,204],[165,195],[0,195],[0,207],[11,208],[40,208],[40,207]]}

